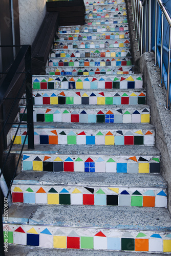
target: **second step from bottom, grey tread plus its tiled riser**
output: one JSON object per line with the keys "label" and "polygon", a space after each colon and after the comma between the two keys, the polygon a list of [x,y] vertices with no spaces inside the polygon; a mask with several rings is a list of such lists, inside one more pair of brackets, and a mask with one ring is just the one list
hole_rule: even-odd
{"label": "second step from bottom, grey tread plus its tiled riser", "polygon": [[166,188],[160,175],[27,171],[15,178],[11,192],[13,203],[167,207]]}

